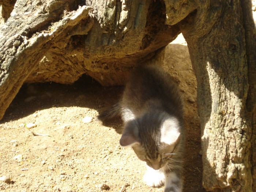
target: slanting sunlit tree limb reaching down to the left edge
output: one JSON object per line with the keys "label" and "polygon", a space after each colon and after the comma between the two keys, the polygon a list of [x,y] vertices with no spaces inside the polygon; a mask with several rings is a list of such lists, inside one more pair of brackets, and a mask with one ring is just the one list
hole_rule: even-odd
{"label": "slanting sunlit tree limb reaching down to the left edge", "polygon": [[[19,1],[16,4],[19,4]],[[48,1],[48,4],[43,4],[42,7],[37,8],[32,5],[30,11],[33,11],[33,14],[18,12],[22,10],[20,6],[22,7],[19,4],[14,8],[13,12],[17,11],[16,14],[12,14],[0,29],[0,119],[45,52],[61,38],[70,38],[65,35],[82,19],[88,18],[88,12],[91,10],[90,7],[80,7],[78,11],[69,12],[61,20],[52,23],[50,29],[40,30],[40,27],[59,17],[52,14],[56,4]],[[13,28],[11,22],[20,25]],[[89,30],[90,27],[87,31]],[[30,36],[31,31],[38,31],[38,33]],[[62,33],[64,36],[61,35]]]}

